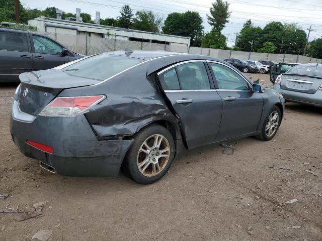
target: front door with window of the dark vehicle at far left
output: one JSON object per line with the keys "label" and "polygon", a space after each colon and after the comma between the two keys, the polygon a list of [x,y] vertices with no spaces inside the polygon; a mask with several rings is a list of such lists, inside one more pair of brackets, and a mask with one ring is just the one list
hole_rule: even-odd
{"label": "front door with window of the dark vehicle at far left", "polygon": [[33,48],[33,68],[43,70],[69,62],[67,55],[62,55],[63,47],[55,41],[39,36],[31,36]]}

